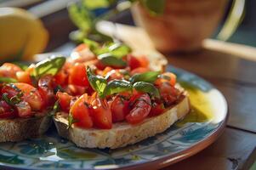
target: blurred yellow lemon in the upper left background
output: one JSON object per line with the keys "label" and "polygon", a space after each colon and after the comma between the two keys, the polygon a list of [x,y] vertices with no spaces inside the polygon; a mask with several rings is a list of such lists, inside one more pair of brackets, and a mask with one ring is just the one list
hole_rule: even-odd
{"label": "blurred yellow lemon in the upper left background", "polygon": [[41,20],[21,8],[0,8],[0,59],[32,60],[43,52],[48,31]]}

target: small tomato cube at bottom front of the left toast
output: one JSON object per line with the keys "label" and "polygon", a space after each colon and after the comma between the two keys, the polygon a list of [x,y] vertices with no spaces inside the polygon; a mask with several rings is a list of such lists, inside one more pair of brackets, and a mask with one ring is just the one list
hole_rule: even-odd
{"label": "small tomato cube at bottom front of the left toast", "polygon": [[31,106],[26,101],[20,101],[15,104],[18,116],[20,117],[31,117],[34,116],[34,112],[31,111]]}

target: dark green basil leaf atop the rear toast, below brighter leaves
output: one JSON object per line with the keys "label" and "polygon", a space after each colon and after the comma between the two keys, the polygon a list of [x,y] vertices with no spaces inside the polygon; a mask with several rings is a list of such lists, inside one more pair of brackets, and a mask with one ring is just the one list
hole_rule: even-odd
{"label": "dark green basil leaf atop the rear toast, below brighter leaves", "polygon": [[124,67],[127,65],[127,63],[122,59],[117,59],[112,54],[100,54],[98,56],[98,59],[102,62],[103,65],[108,66],[117,66],[117,67]]}

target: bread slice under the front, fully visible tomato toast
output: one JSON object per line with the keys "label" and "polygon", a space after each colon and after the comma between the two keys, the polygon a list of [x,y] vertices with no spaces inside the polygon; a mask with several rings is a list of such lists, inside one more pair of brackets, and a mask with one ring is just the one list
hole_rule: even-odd
{"label": "bread slice under the front, fully visible tomato toast", "polygon": [[54,123],[58,133],[65,139],[70,139],[82,148],[119,148],[128,144],[135,144],[147,139],[156,133],[162,133],[168,127],[185,117],[190,111],[190,101],[187,95],[179,99],[179,103],[159,116],[146,118],[144,122],[131,125],[127,122],[114,123],[109,130],[83,129],[70,127],[67,129],[68,114],[59,112],[54,116]]}

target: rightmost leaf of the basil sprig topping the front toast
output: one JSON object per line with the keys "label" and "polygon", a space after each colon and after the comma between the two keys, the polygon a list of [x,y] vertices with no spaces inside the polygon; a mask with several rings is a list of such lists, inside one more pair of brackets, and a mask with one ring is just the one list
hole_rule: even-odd
{"label": "rightmost leaf of the basil sprig topping the front toast", "polygon": [[160,98],[158,89],[150,82],[135,82],[133,86],[137,91],[151,94],[156,98]]}

